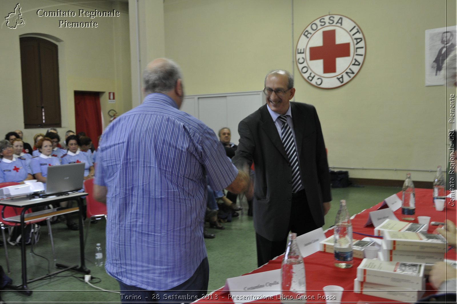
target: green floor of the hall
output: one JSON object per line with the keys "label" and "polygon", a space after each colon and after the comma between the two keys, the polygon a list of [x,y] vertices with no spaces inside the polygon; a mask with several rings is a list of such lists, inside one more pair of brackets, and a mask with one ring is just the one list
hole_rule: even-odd
{"label": "green floor of the hall", "polygon": [[[333,225],[339,201],[345,199],[350,214],[361,212],[371,207],[386,197],[401,190],[399,187],[362,186],[332,189],[333,201],[329,213],[325,216],[324,229]],[[208,261],[210,267],[208,289],[215,290],[225,284],[228,277],[237,277],[257,268],[255,252],[255,233],[252,217],[247,216],[247,204],[242,202],[244,210],[239,217],[235,217],[232,223],[224,223],[224,230],[207,228],[208,232],[214,233],[216,238],[205,239]],[[87,220],[85,222],[87,225]],[[116,290],[117,281],[108,276],[105,269],[94,265],[96,243],[100,242],[105,248],[105,221],[99,220],[90,225],[90,234],[87,240],[86,266],[91,270],[93,277],[98,277],[101,282],[94,284],[97,287]],[[206,224],[208,227],[208,224]],[[76,265],[79,262],[78,232],[70,231],[62,223],[52,225],[54,244],[56,245],[57,262]],[[52,272],[56,268],[52,261],[52,252],[46,226],[41,228],[41,239],[34,246],[35,253],[43,255],[45,259],[30,253],[27,246],[27,272],[28,277],[39,277]],[[9,277],[14,284],[21,282],[21,255],[18,246],[8,245],[8,254],[12,273]],[[0,265],[6,271],[4,249],[0,247]],[[120,302],[120,296],[116,293],[107,293],[90,287],[85,282],[75,277],[63,277],[73,275],[83,277],[83,274],[74,271],[65,271],[58,274],[59,277],[40,280],[29,284],[33,290],[31,296],[10,290],[2,290],[1,297],[7,303],[115,303]]]}

